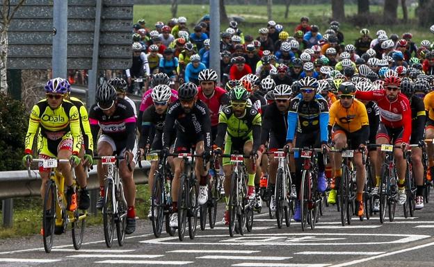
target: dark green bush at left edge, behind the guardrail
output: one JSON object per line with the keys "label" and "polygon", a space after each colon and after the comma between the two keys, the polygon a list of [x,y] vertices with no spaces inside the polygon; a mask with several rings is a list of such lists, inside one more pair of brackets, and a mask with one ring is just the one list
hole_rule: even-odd
{"label": "dark green bush at left edge, behind the guardrail", "polygon": [[0,171],[23,169],[22,154],[29,116],[20,101],[0,93]]}

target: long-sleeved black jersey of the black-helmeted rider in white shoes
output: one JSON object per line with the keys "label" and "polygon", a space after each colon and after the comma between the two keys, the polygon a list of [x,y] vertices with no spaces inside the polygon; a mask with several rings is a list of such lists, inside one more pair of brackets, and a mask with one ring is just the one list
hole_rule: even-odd
{"label": "long-sleeved black jersey of the black-helmeted rider in white shoes", "polygon": [[163,130],[163,148],[170,146],[173,128],[176,128],[177,138],[195,139],[202,136],[204,146],[211,149],[211,119],[207,105],[197,100],[190,112],[185,112],[179,100],[169,107]]}

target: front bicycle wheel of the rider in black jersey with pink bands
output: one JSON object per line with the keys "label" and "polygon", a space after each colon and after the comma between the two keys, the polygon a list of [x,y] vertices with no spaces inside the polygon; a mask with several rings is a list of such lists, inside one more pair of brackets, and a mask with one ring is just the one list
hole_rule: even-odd
{"label": "front bicycle wheel of the rider in black jersey with pink bands", "polygon": [[106,246],[111,248],[113,244],[113,234],[115,232],[115,214],[113,207],[113,180],[106,179],[104,184],[104,207],[102,209],[102,221],[104,224],[104,240]]}

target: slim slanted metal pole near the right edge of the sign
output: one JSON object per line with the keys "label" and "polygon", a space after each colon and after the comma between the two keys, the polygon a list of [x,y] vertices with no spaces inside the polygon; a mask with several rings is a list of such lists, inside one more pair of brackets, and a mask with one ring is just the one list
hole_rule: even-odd
{"label": "slim slanted metal pole near the right edge of the sign", "polygon": [[95,92],[97,90],[99,27],[101,26],[101,12],[102,0],[97,0],[97,8],[95,10],[95,29],[93,33],[92,69],[89,69],[88,76],[88,99],[86,101],[88,108],[95,103]]}

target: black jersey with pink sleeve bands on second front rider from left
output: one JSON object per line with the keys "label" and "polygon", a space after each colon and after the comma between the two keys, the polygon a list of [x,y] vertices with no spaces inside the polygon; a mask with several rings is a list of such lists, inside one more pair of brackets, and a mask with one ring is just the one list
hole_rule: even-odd
{"label": "black jersey with pink sleeve bands on second front rider from left", "polygon": [[[115,142],[124,144],[127,150],[133,150],[136,143],[136,117],[133,107],[122,98],[116,101],[116,109],[110,117],[104,114],[97,104],[90,107],[89,123],[93,136],[93,144],[97,144],[99,128]],[[118,148],[118,146],[116,146]]]}

